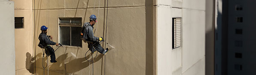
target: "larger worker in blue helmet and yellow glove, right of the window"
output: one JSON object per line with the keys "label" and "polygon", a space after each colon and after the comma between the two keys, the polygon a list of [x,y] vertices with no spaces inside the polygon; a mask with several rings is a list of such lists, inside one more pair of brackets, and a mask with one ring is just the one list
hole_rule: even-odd
{"label": "larger worker in blue helmet and yellow glove, right of the window", "polygon": [[90,15],[90,22],[84,23],[82,30],[81,30],[81,39],[85,41],[89,41],[88,48],[91,52],[95,52],[96,50],[99,51],[101,54],[106,54],[108,52],[108,48],[104,50],[102,46],[99,44],[99,41],[102,40],[101,37],[96,37],[93,35],[93,25],[97,22],[95,15]]}

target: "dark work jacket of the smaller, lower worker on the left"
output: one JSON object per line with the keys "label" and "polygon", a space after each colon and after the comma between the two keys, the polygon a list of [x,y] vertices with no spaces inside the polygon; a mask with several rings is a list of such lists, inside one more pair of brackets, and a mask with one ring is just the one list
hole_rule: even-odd
{"label": "dark work jacket of the smaller, lower worker on the left", "polygon": [[42,44],[44,47],[47,45],[55,45],[56,42],[52,42],[45,33],[40,33],[38,39],[40,40],[39,44]]}

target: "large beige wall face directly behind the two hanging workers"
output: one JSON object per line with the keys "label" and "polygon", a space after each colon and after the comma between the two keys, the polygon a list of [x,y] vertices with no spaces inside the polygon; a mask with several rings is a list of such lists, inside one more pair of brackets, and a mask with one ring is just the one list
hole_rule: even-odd
{"label": "large beige wall face directly behind the two hanging workers", "polygon": [[[99,56],[96,57],[93,67],[92,63],[84,58],[88,50],[87,43],[83,42],[82,48],[70,46],[66,50],[59,48],[55,52],[57,63],[49,63],[49,75],[89,75],[92,74],[92,68],[94,75],[101,75],[104,72],[106,75],[145,75],[147,51],[145,0],[109,0],[106,37],[103,35],[103,24],[105,21],[106,26],[107,10],[105,9],[104,12],[104,3],[107,4],[107,2],[100,0],[98,15],[98,10],[93,9],[94,1],[96,1],[95,8],[98,8],[99,0],[50,0],[49,10],[47,10],[47,0],[35,1],[36,45],[39,43],[37,37],[41,33],[40,27],[43,24],[49,27],[48,35],[52,35],[53,41],[58,42],[59,17],[81,17],[82,21],[88,22],[90,15],[95,14],[99,16],[98,24],[94,26],[97,28],[96,36],[106,38],[106,42],[115,47],[106,56],[98,53]],[[88,9],[86,9],[87,2],[89,2]],[[53,48],[57,47],[53,46]],[[33,64],[36,64],[36,72],[33,74],[42,75],[42,49],[36,46],[35,53],[36,61]],[[47,74],[47,68],[45,74]]]}

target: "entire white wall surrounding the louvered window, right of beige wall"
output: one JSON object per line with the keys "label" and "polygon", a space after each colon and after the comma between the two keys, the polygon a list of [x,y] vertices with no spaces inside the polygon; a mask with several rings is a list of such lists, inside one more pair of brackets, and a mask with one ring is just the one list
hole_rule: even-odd
{"label": "entire white wall surrounding the louvered window, right of beige wall", "polygon": [[[157,74],[205,75],[205,0],[157,0],[156,10]],[[179,17],[182,46],[172,49],[172,18]]]}

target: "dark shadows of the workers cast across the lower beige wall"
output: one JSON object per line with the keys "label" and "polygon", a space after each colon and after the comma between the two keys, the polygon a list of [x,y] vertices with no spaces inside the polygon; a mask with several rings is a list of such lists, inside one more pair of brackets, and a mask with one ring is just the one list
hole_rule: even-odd
{"label": "dark shadows of the workers cast across the lower beige wall", "polygon": [[[92,64],[92,62],[87,61],[84,57],[71,60],[71,61],[69,61],[68,63],[65,64],[65,59],[69,59],[69,58],[67,58],[68,57],[67,55],[68,55],[68,53],[60,55],[56,59],[58,62],[57,63],[53,63],[52,65],[49,66],[49,70],[50,70],[49,74],[50,75],[54,75],[55,74],[54,72],[65,73],[65,74],[70,74],[70,73],[78,72],[81,69],[84,69],[87,66],[89,66],[90,64]],[[34,57],[32,57],[29,52],[27,52],[26,57],[27,57],[26,58],[26,69],[30,73],[32,73],[32,74],[36,73],[36,75],[39,74],[39,73],[43,73],[43,72],[35,72],[35,62],[40,63],[39,65],[36,66],[37,68],[43,69],[42,65],[41,65],[42,64],[41,63],[42,62],[42,53],[39,53],[39,54],[36,55],[36,57],[35,57],[36,61],[34,60]],[[94,61],[97,62],[102,57],[103,57],[103,54],[99,54],[95,58]],[[90,55],[87,55],[86,58],[89,59]],[[50,60],[51,58],[48,57],[48,59]],[[47,59],[45,58],[45,60],[43,61],[45,64],[47,64],[46,60]],[[90,60],[92,60],[92,58]],[[50,62],[48,61],[48,63],[50,63]],[[61,69],[64,66],[66,66],[66,72],[65,72],[65,70],[58,70],[58,69]],[[53,71],[53,69],[55,69],[54,72],[51,72],[51,71]],[[43,71],[43,70],[40,70],[40,71]],[[47,68],[46,68],[45,72],[47,73]]]}

